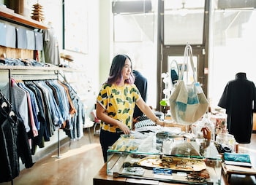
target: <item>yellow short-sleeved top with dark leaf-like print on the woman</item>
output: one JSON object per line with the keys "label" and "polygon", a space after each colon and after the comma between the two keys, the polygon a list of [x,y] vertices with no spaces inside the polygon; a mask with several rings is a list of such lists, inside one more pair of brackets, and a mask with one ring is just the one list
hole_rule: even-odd
{"label": "yellow short-sleeved top with dark leaf-like print on the woman", "polygon": [[[140,92],[135,84],[125,84],[120,87],[116,84],[103,84],[97,97],[98,103],[105,109],[105,113],[113,119],[126,124],[132,129],[132,114],[135,103],[140,98]],[[101,122],[103,130],[119,133],[121,129],[117,126]]]}

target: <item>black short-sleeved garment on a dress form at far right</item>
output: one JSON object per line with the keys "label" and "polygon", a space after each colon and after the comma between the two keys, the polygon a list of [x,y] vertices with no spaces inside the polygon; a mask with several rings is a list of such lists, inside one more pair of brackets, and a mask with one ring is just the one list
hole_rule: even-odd
{"label": "black short-sleeved garment on a dress form at far right", "polygon": [[256,110],[255,84],[246,79],[245,73],[227,82],[218,106],[226,109],[227,130],[238,143],[250,143],[253,111]]}

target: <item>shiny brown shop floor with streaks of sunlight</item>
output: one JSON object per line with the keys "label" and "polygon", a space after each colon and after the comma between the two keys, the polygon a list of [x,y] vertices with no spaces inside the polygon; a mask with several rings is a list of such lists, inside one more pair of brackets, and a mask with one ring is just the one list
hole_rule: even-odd
{"label": "shiny brown shop floor with streaks of sunlight", "polygon": [[[249,153],[252,164],[256,166],[256,134],[252,134],[252,142],[239,146],[241,153]],[[57,150],[34,164],[32,168],[20,171],[20,175],[13,182],[1,183],[14,185],[30,184],[72,184],[92,185],[93,178],[104,165],[102,151],[99,145],[99,136],[93,135],[91,130],[91,143],[88,132],[78,141],[67,142]],[[221,184],[227,184],[222,178]],[[255,176],[232,176],[231,185],[256,184]]]}

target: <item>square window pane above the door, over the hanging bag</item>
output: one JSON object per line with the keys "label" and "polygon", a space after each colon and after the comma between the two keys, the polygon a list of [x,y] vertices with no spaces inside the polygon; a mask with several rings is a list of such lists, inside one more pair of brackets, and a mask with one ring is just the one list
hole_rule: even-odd
{"label": "square window pane above the door, over the hanging bag", "polygon": [[164,44],[203,44],[205,0],[164,1]]}

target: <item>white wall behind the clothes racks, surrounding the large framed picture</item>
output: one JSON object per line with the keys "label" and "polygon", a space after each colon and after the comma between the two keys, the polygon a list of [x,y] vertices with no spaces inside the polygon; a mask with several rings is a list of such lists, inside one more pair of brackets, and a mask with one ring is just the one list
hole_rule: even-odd
{"label": "white wall behind the clothes racks, surrounding the large framed picture", "polygon": [[[79,72],[66,75],[69,82],[72,82],[72,86],[81,96],[87,108],[87,115],[90,116],[99,90],[99,0],[85,1],[88,1],[87,4],[89,4],[89,7],[84,7],[85,11],[88,11],[88,52],[86,54],[62,49],[62,1],[44,0],[39,1],[39,4],[43,7],[44,23],[48,24],[48,22],[51,22],[56,31],[60,53],[64,52],[65,54],[72,55],[74,62],[69,63],[69,65],[80,70]],[[31,15],[33,4],[37,4],[37,2],[37,0],[25,0],[28,17]]]}

